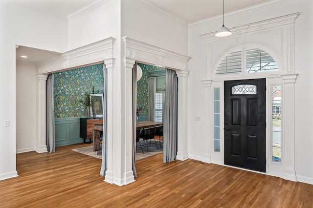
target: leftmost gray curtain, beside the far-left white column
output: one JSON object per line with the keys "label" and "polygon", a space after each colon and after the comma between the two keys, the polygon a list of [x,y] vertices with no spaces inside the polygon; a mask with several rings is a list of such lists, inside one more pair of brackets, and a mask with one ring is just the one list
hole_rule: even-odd
{"label": "leftmost gray curtain, beside the far-left white column", "polygon": [[49,74],[46,83],[46,146],[50,153],[55,152],[53,82],[53,74]]}

